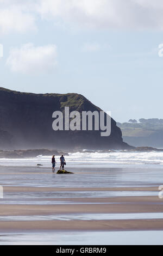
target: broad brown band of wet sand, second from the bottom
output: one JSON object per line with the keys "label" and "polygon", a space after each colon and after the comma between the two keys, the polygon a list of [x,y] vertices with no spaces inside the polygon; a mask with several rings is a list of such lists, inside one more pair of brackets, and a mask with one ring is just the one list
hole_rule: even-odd
{"label": "broad brown band of wet sand, second from the bottom", "polygon": [[[72,200],[71,198],[66,198]],[[93,198],[97,200],[96,198]],[[140,200],[141,199],[141,200]],[[132,212],[163,212],[163,202],[158,197],[125,197],[123,204],[121,198],[107,198],[105,203],[98,198],[101,204],[91,204],[90,199],[84,199],[89,204],[54,204],[54,205],[26,205],[26,204],[1,204],[0,207],[0,221],[1,216],[16,216],[16,215],[55,215],[55,214],[103,214],[103,213],[132,213]],[[140,202],[141,201],[141,202]],[[162,204],[161,204],[162,203]],[[1,226],[0,226],[1,227]]]}

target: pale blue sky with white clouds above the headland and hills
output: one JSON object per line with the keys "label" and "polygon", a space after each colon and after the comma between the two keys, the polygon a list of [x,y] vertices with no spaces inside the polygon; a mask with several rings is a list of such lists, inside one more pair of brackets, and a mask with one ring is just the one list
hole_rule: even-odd
{"label": "pale blue sky with white clouds above the headland and hills", "polygon": [[0,0],[0,44],[1,87],[163,118],[162,0]]}

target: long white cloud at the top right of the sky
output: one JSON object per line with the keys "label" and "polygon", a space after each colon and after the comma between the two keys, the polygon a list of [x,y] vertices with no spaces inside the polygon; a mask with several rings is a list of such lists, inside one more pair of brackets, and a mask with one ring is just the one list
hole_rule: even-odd
{"label": "long white cloud at the top right of the sky", "polygon": [[87,28],[163,29],[162,0],[37,0],[42,19]]}

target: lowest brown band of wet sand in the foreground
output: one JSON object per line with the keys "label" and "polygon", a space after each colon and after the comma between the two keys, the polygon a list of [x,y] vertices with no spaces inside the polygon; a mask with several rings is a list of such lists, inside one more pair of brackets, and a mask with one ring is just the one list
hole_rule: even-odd
{"label": "lowest brown band of wet sand in the foreground", "polygon": [[163,230],[163,220],[0,221],[1,232]]}

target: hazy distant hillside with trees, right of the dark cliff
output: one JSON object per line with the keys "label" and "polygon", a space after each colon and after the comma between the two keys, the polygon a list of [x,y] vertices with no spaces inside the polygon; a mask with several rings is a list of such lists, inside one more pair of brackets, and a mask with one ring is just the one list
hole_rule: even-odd
{"label": "hazy distant hillside with trees, right of the dark cliff", "polygon": [[128,123],[117,123],[124,141],[135,147],[163,148],[163,119],[130,119]]}

